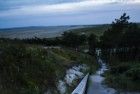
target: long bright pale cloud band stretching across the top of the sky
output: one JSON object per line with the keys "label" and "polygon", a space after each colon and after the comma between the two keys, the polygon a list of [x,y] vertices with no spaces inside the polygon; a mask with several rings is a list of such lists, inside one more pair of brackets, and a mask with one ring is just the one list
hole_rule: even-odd
{"label": "long bright pale cloud band stretching across the top of the sky", "polygon": [[[31,5],[31,6],[21,6],[17,9],[11,9],[6,11],[1,11],[0,17],[5,16],[20,16],[20,15],[42,15],[42,14],[65,14],[73,13],[79,11],[85,11],[92,9],[97,9],[97,6],[103,6],[106,4],[121,3],[121,4],[134,4],[140,3],[139,0],[88,0],[81,2],[71,2],[71,3],[60,3],[53,5]],[[99,8],[99,7],[98,7]]]}

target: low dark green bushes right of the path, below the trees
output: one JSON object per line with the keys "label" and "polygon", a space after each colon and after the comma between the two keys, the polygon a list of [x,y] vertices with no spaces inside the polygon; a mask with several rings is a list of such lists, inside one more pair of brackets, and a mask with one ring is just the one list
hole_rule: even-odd
{"label": "low dark green bushes right of the path, below the trees", "polygon": [[109,66],[110,70],[105,73],[105,83],[118,90],[140,91],[139,65],[139,61],[133,61]]}

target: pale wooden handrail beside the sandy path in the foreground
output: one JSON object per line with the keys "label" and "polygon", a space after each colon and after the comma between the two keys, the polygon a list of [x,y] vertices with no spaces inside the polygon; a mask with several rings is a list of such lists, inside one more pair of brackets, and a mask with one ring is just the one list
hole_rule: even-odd
{"label": "pale wooden handrail beside the sandy path in the foreground", "polygon": [[89,76],[89,73],[82,79],[82,81],[79,83],[79,85],[71,94],[84,94],[85,93],[88,76]]}

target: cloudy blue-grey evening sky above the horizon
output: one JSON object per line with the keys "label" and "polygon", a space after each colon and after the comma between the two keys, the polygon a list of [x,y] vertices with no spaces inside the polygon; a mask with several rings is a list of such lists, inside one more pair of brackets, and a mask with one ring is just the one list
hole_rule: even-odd
{"label": "cloudy blue-grey evening sky above the horizon", "polygon": [[0,28],[140,22],[140,0],[0,0]]}

